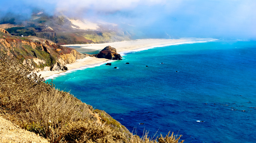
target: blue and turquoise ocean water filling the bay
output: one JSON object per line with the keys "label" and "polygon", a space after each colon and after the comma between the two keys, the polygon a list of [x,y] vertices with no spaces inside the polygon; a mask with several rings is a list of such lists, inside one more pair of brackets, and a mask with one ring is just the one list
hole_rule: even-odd
{"label": "blue and turquoise ocean water filling the bay", "polygon": [[139,136],[145,129],[186,143],[254,143],[255,48],[256,41],[240,40],[155,47],[53,83]]}

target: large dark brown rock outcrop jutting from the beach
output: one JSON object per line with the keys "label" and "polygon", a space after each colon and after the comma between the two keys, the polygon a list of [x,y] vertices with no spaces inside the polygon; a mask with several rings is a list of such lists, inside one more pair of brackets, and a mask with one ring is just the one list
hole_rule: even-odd
{"label": "large dark brown rock outcrop jutting from the beach", "polygon": [[117,54],[117,49],[111,46],[105,47],[98,54],[95,55],[97,58],[106,58],[111,60],[122,60],[120,54]]}

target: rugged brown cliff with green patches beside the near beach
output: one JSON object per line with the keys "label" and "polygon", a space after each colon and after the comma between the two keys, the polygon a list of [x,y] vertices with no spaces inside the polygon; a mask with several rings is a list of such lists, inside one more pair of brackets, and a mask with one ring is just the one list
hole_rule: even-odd
{"label": "rugged brown cliff with green patches beside the near beach", "polygon": [[13,57],[23,65],[32,66],[35,71],[67,70],[66,64],[86,57],[75,49],[60,46],[50,40],[33,36],[26,38],[11,36],[1,28],[0,54]]}

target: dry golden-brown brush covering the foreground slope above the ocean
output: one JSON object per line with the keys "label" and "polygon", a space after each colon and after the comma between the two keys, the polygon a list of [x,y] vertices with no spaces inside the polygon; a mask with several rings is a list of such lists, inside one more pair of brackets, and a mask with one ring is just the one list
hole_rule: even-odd
{"label": "dry golden-brown brush covering the foreground slope above the ocean", "polygon": [[0,55],[0,114],[52,143],[179,143],[181,136],[169,133],[155,140],[148,132],[141,138],[132,135],[106,112],[44,81],[31,68]]}

